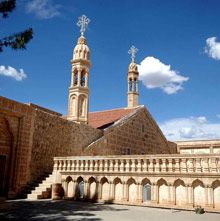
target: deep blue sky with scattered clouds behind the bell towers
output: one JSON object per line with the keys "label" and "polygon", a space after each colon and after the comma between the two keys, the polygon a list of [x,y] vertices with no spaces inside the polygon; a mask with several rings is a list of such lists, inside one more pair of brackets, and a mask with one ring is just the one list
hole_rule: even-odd
{"label": "deep blue sky with scattered clouds behind the bell towers", "polygon": [[0,54],[0,94],[66,114],[76,22],[86,14],[90,111],[127,105],[127,51],[135,45],[140,103],[165,135],[220,138],[219,10],[218,0],[20,0],[1,19],[0,37],[32,27],[34,38],[25,51]]}

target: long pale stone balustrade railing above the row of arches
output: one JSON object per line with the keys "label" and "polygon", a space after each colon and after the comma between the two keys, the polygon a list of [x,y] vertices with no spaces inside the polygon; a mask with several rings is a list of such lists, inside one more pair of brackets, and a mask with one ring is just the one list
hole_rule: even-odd
{"label": "long pale stone balustrade railing above the row of arches", "polygon": [[220,156],[132,155],[55,157],[54,170],[78,173],[193,173],[220,172]]}

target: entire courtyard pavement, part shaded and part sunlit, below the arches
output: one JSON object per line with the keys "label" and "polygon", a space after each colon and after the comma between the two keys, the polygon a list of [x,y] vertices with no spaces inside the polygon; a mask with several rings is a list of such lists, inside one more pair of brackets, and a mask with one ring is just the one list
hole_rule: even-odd
{"label": "entire courtyard pavement, part shaded and part sunlit, below the arches", "polygon": [[0,220],[109,220],[109,221],[219,221],[220,214],[197,215],[193,211],[158,209],[115,204],[52,201],[8,200],[0,203]]}

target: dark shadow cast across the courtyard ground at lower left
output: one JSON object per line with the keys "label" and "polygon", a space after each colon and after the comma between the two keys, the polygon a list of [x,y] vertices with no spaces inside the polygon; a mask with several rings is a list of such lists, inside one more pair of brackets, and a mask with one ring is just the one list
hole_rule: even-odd
{"label": "dark shadow cast across the courtyard ground at lower left", "polygon": [[0,204],[0,220],[96,220],[95,211],[120,212],[127,209],[115,209],[110,205],[76,201],[6,201]]}

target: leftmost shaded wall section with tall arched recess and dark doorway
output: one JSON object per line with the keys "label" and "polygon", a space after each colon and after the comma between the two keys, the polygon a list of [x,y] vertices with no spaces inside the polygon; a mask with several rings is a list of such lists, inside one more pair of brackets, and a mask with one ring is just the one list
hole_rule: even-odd
{"label": "leftmost shaded wall section with tall arched recess and dark doorway", "polygon": [[29,106],[0,97],[0,139],[6,139],[7,134],[10,140],[5,147],[0,145],[0,155],[6,158],[4,196],[14,197],[29,179],[33,114]]}

